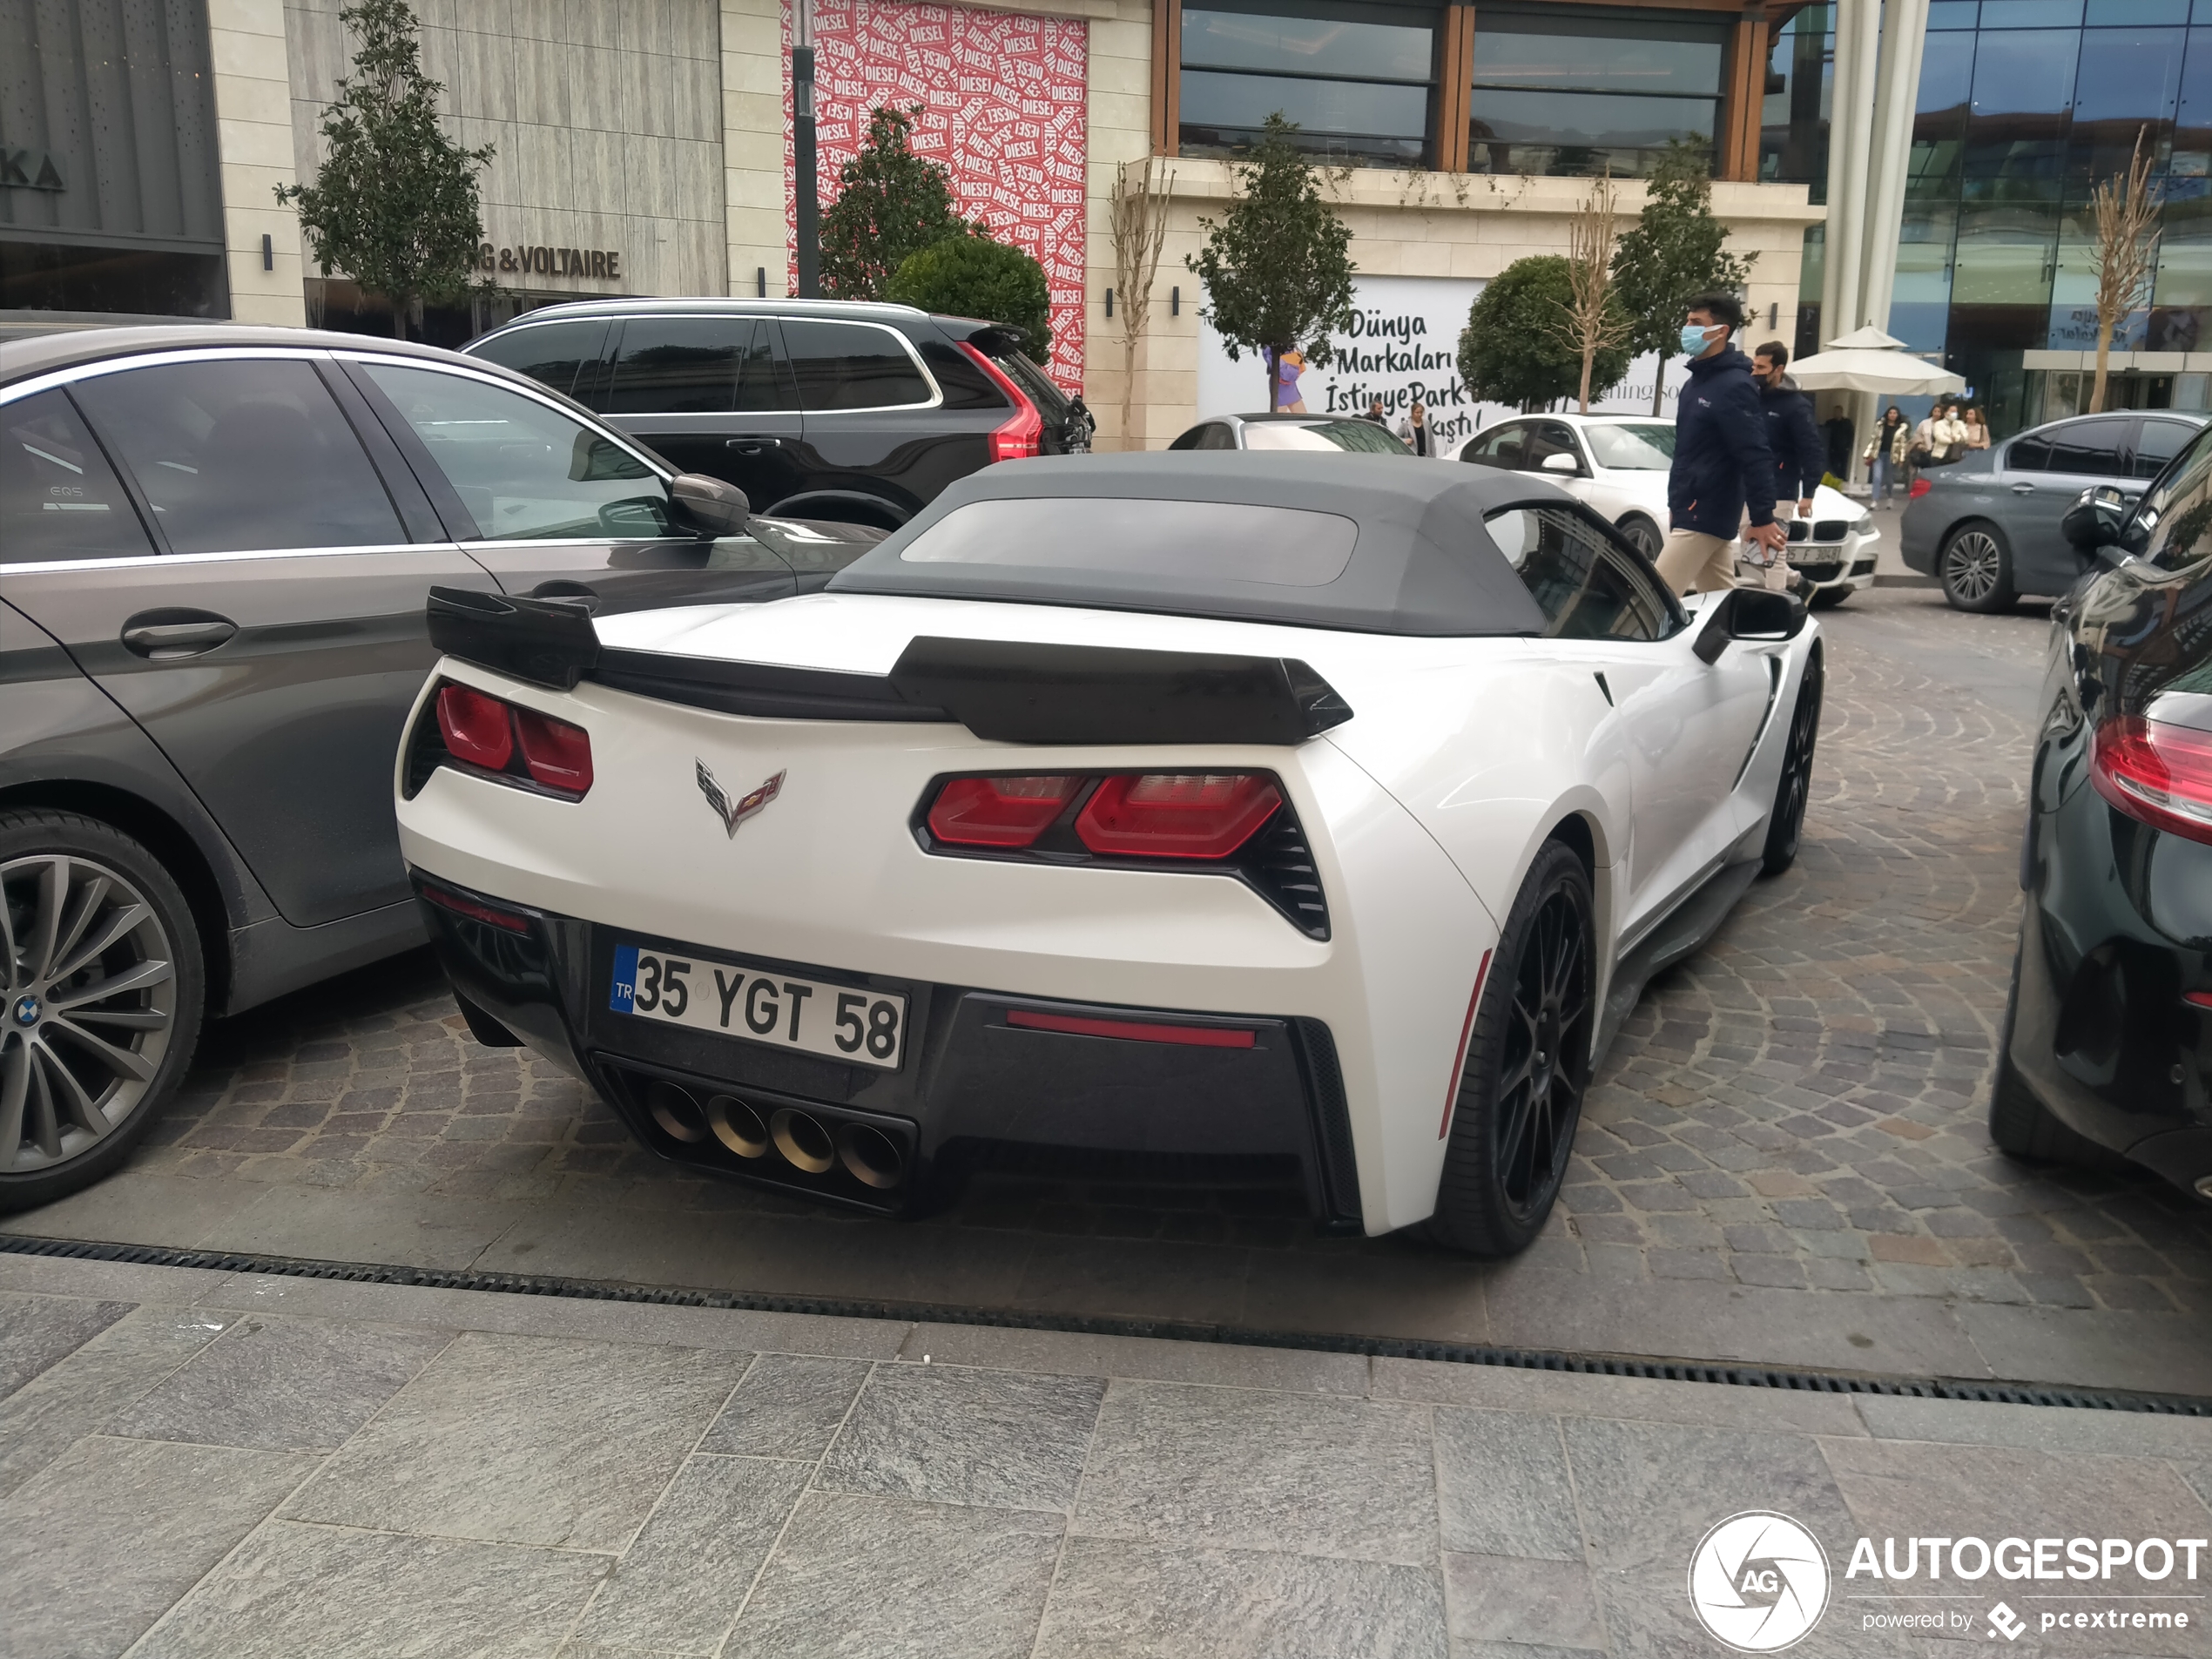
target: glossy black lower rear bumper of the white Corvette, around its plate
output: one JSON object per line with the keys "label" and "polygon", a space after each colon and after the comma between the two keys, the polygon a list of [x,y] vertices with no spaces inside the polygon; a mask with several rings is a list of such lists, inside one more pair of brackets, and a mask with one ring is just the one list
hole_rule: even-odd
{"label": "glossy black lower rear bumper of the white Corvette, around its plate", "polygon": [[[703,958],[730,951],[639,931],[617,940],[604,925],[420,872],[414,880],[471,1024],[489,1018],[582,1073],[661,1157],[885,1212],[909,1208],[942,1177],[1006,1161],[1108,1179],[1285,1186],[1323,1225],[1360,1228],[1345,1088],[1321,1020],[1095,1006],[763,964],[902,993],[907,1046],[898,1071],[880,1071],[611,1009],[617,942]],[[1237,1046],[1011,1024],[1018,1011],[1051,1024],[1214,1033]],[[863,1141],[878,1155],[847,1155]],[[823,1157],[810,1155],[816,1144]],[[883,1157],[883,1144],[896,1157]]]}

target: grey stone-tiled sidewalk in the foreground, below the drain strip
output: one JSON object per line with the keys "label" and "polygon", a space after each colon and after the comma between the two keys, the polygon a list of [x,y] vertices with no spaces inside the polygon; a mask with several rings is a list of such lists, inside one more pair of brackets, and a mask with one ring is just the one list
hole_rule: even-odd
{"label": "grey stone-tiled sidewalk in the foreground, below the drain strip", "polygon": [[[2212,1533],[2212,1422],[2110,1411],[0,1256],[0,1447],[40,1659],[1703,1655],[1745,1509],[1827,1555],[1794,1652],[2000,1599],[2008,1655],[2208,1652],[2203,1559],[1845,1575]],[[2090,1604],[2188,1628],[2044,1632]]]}

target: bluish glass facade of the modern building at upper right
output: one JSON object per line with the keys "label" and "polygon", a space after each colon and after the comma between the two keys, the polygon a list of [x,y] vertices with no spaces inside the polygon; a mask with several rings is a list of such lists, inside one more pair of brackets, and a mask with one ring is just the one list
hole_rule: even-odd
{"label": "bluish glass facade of the modern building at upper right", "polygon": [[[1761,177],[1827,188],[1832,7],[1774,40]],[[1933,0],[1889,332],[1942,352],[1997,431],[2073,414],[2086,374],[2028,352],[2097,345],[2090,188],[2137,139],[2163,192],[2150,303],[2126,352],[2212,349],[2212,0]],[[1807,239],[1798,349],[1818,341],[1820,241]],[[2115,378],[2117,407],[2203,407],[2205,374]]]}

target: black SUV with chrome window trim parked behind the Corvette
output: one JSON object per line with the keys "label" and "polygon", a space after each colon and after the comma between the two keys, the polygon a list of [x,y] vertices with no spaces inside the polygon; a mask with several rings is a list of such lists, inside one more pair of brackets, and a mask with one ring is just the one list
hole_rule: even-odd
{"label": "black SUV with chrome window trim parked behind the Corvette", "polygon": [[978,467],[1086,449],[1091,434],[1018,330],[911,305],[586,301],[465,349],[783,518],[898,529]]}

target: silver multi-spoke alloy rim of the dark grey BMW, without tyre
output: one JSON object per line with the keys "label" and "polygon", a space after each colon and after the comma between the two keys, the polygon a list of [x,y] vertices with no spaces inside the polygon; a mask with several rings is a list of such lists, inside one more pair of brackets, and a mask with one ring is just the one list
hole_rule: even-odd
{"label": "silver multi-spoke alloy rim of the dark grey BMW, without tyre", "polygon": [[146,1099],[177,1035],[177,951],[122,872],[0,863],[0,1175],[66,1164]]}

